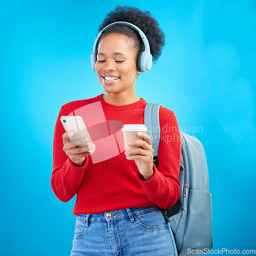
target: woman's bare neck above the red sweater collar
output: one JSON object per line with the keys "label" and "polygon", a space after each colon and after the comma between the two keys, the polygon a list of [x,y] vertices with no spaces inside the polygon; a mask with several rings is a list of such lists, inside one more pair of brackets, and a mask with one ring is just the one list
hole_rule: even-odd
{"label": "woman's bare neck above the red sweater collar", "polygon": [[131,95],[127,95],[127,94],[117,95],[116,93],[105,93],[102,95],[102,99],[106,103],[115,105],[115,106],[128,105],[140,100],[140,98],[137,97],[136,93]]}

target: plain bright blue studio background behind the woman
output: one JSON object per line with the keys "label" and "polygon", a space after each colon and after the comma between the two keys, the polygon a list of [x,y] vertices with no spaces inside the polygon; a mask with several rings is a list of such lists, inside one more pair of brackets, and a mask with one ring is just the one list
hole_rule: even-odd
{"label": "plain bright blue studio background behind the woman", "polygon": [[54,125],[61,105],[104,93],[90,55],[117,4],[151,11],[165,32],[136,92],[204,145],[213,249],[255,249],[255,1],[1,2],[1,255],[70,255],[75,197],[51,189]]}

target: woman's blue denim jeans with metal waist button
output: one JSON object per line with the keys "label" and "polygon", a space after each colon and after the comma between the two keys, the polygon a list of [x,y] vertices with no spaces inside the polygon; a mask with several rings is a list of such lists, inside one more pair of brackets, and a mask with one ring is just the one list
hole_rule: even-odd
{"label": "woman's blue denim jeans with metal waist button", "polygon": [[177,256],[169,222],[160,208],[126,208],[76,219],[72,256]]}

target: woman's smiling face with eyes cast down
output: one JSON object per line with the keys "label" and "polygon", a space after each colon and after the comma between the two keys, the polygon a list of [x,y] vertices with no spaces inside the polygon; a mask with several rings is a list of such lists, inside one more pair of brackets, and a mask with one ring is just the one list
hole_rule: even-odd
{"label": "woman's smiling face with eyes cast down", "polygon": [[95,70],[106,93],[135,92],[138,69],[134,40],[120,34],[103,37],[98,46]]}

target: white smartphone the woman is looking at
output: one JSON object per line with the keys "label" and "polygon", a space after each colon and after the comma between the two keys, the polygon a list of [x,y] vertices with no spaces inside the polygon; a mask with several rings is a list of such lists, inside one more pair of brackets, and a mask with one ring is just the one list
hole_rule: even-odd
{"label": "white smartphone the woman is looking at", "polygon": [[[77,139],[82,139],[84,137],[89,138],[89,142],[85,144],[80,144],[77,147],[87,146],[93,144],[93,141],[88,133],[86,125],[84,124],[82,117],[80,116],[61,116],[60,121],[66,132],[74,132],[74,135],[70,137],[70,141],[74,141]],[[94,150],[89,151],[90,153],[94,152]]]}

